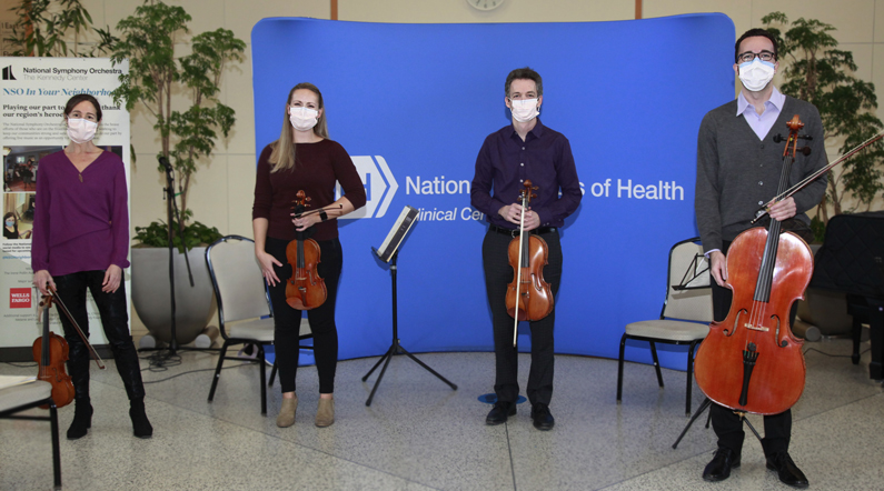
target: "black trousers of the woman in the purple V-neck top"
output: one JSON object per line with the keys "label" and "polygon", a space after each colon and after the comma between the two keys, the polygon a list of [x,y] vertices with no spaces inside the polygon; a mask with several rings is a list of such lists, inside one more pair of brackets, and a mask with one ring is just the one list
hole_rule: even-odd
{"label": "black trousers of the woman in the purple V-neck top", "polygon": [[[54,277],[56,291],[61,301],[68,307],[71,317],[89,338],[89,317],[86,312],[86,290],[92,294],[101,317],[101,327],[105,337],[110,343],[117,372],[126,387],[129,400],[143,399],[145,384],[141,381],[141,365],[138,352],[132,343],[129,332],[129,310],[126,307],[126,283],[120,282],[120,288],[113,293],[101,291],[105,271],[80,271],[71,274]],[[80,339],[73,324],[58,308],[64,339],[70,349],[68,353],[68,371],[73,383],[75,398],[78,401],[89,401],[89,348]]]}

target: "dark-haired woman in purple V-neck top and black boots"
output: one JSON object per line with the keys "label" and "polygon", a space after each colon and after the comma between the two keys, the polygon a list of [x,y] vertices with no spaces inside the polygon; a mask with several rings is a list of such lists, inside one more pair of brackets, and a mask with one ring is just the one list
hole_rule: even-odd
{"label": "dark-haired woman in purple V-neck top and black boots", "polygon": [[[129,267],[129,210],[122,160],[92,143],[101,122],[101,106],[89,94],[73,96],[64,107],[71,143],[40,160],[33,216],[31,268],[41,293],[52,287],[89,335],[86,290],[101,315],[117,371],[129,395],[129,417],[138,438],[153,428],[145,414],[145,385],[132,337],[122,269]],[[68,440],[82,438],[92,425],[89,399],[89,352],[70,321],[61,314],[70,345],[68,371],[75,390],[73,421]]]}

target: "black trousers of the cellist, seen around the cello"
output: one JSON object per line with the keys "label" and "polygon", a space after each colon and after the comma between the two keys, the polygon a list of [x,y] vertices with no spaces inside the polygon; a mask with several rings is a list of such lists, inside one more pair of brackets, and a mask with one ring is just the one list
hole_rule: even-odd
{"label": "black trousers of the cellist, seen around the cello", "polygon": [[[727,253],[731,247],[729,241],[724,242],[723,252]],[[713,317],[716,321],[721,322],[731,310],[731,302],[733,301],[733,292],[724,287],[719,287],[715,280],[712,280],[712,307]],[[795,314],[797,313],[797,303],[793,305],[789,313],[789,325],[795,323]],[[718,437],[718,447],[731,449],[737,454],[743,450],[743,439],[745,432],[743,431],[743,421],[734,413],[732,409],[713,403],[711,409],[712,428]],[[787,452],[788,442],[792,437],[792,410],[787,409],[779,414],[764,417],[764,439],[762,447],[766,455],[772,455],[777,452]]]}

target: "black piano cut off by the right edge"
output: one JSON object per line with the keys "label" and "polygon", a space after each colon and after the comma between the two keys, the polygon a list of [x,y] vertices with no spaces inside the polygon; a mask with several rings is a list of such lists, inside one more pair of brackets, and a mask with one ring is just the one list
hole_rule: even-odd
{"label": "black piano cut off by the right edge", "polygon": [[847,295],[847,313],[854,319],[854,364],[860,362],[860,328],[868,323],[868,377],[884,379],[884,211],[832,217],[814,263],[812,288]]}

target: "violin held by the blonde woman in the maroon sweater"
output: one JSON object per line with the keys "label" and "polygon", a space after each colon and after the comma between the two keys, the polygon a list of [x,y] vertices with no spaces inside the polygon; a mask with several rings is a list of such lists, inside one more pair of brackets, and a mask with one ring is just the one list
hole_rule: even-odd
{"label": "violin held by the blonde woman in the maroon sweater", "polygon": [[[310,201],[304,190],[296,194],[292,201],[295,206],[292,211],[295,217],[304,217],[310,212],[305,213],[306,204]],[[319,210],[316,210],[319,211]],[[326,291],[326,282],[319,278],[316,268],[319,264],[319,244],[310,237],[316,233],[316,229],[309,229],[299,232],[295,231],[295,240],[286,247],[286,259],[291,264],[291,278],[286,280],[286,303],[292,309],[310,310],[316,309],[326,301],[328,292]]]}

